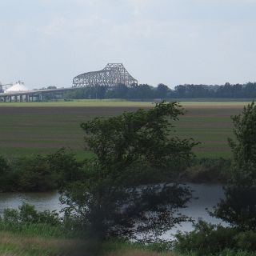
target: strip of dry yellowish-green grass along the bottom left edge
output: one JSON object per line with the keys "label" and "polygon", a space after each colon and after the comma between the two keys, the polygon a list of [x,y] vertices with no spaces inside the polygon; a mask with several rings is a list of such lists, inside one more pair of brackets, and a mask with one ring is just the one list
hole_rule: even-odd
{"label": "strip of dry yellowish-green grass along the bottom left edge", "polygon": [[125,242],[98,244],[79,239],[45,238],[38,235],[21,235],[2,231],[0,231],[0,254],[2,256],[178,256],[171,252],[156,252],[147,246]]}

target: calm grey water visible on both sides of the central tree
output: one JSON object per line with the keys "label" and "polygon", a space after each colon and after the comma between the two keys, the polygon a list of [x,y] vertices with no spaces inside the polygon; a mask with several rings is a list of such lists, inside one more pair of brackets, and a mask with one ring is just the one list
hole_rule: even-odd
{"label": "calm grey water visible on both sides of the central tree", "polygon": [[[209,184],[188,184],[193,192],[194,198],[187,208],[180,210],[182,214],[186,214],[197,220],[202,218],[207,222],[221,223],[220,220],[210,217],[206,208],[209,210],[215,206],[219,198],[223,198],[223,190],[220,185]],[[37,210],[61,210],[62,205],[58,201],[58,192],[47,193],[0,193],[0,214],[5,208],[18,208],[23,202],[30,203],[36,207]],[[174,234],[177,230],[190,231],[193,226],[189,222],[182,223],[182,226],[178,226],[168,232],[168,234]]]}

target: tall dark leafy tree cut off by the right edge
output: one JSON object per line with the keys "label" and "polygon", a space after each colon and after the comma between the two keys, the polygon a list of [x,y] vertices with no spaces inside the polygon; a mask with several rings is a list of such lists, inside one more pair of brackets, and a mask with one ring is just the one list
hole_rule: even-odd
{"label": "tall dark leafy tree cut off by the right edge", "polygon": [[229,139],[234,166],[226,198],[215,207],[214,216],[241,230],[256,230],[256,106],[232,117],[235,141]]}

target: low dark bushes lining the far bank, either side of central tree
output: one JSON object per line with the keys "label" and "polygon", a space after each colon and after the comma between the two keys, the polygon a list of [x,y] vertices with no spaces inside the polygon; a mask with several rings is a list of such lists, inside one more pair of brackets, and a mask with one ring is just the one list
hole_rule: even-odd
{"label": "low dark bushes lining the far bank, either side of central tree", "polygon": [[[54,154],[31,154],[24,158],[0,156],[0,192],[43,192],[59,189],[82,166],[70,150]],[[230,176],[230,159],[195,159],[180,178],[185,182],[225,183]],[[166,182],[166,174],[145,177],[148,182]]]}

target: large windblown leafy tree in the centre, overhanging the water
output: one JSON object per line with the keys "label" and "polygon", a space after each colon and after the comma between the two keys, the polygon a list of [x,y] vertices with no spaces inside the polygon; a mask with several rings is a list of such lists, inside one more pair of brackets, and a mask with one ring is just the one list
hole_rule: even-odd
{"label": "large windblown leafy tree in the centre, overhanging the water", "polygon": [[178,208],[191,198],[188,187],[145,185],[146,177],[152,181],[158,173],[174,180],[193,158],[197,143],[171,134],[179,114],[178,103],[161,102],[150,110],[82,123],[95,156],[62,189],[66,216],[98,238],[155,237],[187,220]]}

